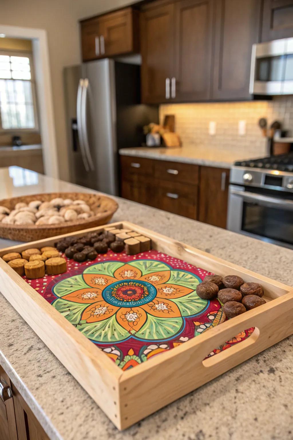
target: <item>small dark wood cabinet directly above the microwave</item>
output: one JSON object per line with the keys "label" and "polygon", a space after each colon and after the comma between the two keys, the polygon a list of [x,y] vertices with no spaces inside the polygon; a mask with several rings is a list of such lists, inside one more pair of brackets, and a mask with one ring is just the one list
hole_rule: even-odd
{"label": "small dark wood cabinet directly above the microwave", "polygon": [[293,37],[293,1],[264,0],[262,41]]}

